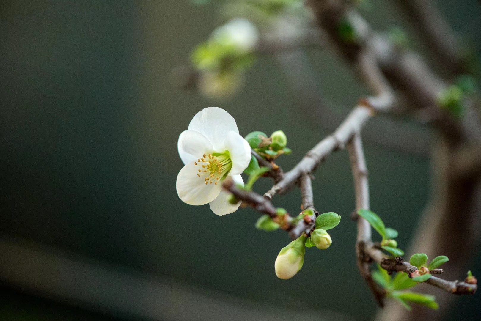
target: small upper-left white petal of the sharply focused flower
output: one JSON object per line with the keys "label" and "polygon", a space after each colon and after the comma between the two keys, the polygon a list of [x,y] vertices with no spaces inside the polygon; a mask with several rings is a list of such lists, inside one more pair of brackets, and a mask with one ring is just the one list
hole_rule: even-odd
{"label": "small upper-left white petal of the sharply focused flower", "polygon": [[179,135],[177,149],[184,164],[214,151],[211,142],[203,134],[194,130],[184,130]]}

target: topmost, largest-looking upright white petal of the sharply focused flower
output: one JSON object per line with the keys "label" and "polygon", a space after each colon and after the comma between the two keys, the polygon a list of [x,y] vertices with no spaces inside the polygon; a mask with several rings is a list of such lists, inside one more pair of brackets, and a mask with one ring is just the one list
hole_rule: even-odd
{"label": "topmost, largest-looking upright white petal of the sharply focused flower", "polygon": [[224,140],[229,131],[239,133],[234,118],[218,107],[207,107],[198,112],[190,121],[188,129],[203,134],[218,153],[225,151]]}

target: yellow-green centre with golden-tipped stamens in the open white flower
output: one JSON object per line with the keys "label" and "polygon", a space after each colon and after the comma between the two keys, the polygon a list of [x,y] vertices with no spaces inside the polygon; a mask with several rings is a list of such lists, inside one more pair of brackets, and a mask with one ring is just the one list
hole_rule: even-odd
{"label": "yellow-green centre with golden-tipped stamens in the open white flower", "polygon": [[232,161],[228,151],[224,153],[212,153],[197,159],[194,162],[198,166],[197,176],[202,178],[205,185],[214,183],[217,185],[219,180],[224,180],[232,168]]}

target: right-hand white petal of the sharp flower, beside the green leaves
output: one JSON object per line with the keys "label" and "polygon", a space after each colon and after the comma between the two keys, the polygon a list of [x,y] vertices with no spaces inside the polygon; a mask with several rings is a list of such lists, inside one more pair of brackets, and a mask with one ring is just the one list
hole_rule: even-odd
{"label": "right-hand white petal of the sharp flower, beside the green leaves", "polygon": [[232,160],[229,175],[241,174],[251,162],[251,146],[241,135],[233,131],[228,132],[224,145]]}

